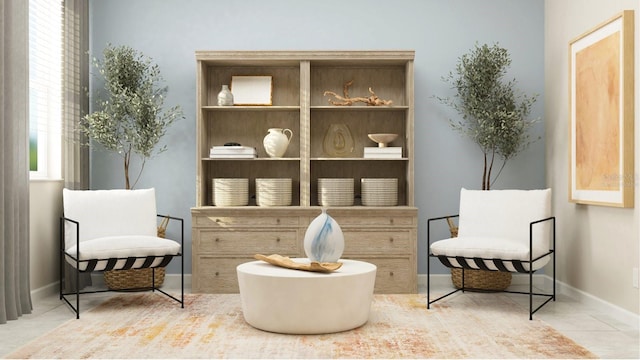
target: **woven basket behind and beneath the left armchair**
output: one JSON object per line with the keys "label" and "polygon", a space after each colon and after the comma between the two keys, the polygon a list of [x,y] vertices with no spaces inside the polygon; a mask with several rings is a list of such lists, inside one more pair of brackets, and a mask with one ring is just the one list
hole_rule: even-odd
{"label": "woven basket behind and beneath the left armchair", "polygon": [[[160,225],[158,225],[158,237],[165,237],[168,225],[169,218],[163,218]],[[152,272],[153,269],[151,268],[105,271],[104,282],[111,290],[150,288],[153,285],[151,283]],[[165,273],[164,267],[156,268],[154,273],[156,287],[164,282]]]}

